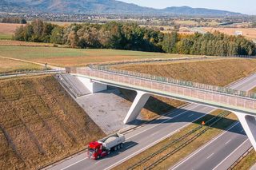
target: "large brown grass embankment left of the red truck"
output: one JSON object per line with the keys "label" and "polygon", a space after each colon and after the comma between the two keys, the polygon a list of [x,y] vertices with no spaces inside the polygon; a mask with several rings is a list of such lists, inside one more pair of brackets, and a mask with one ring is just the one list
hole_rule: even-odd
{"label": "large brown grass embankment left of the red truck", "polygon": [[0,81],[0,165],[38,169],[105,136],[52,76]]}

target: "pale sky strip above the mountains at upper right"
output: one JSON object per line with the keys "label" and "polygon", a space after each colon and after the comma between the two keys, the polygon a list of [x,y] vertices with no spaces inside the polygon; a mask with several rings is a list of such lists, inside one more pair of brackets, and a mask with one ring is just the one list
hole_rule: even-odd
{"label": "pale sky strip above the mountains at upper right", "polygon": [[214,10],[229,10],[242,14],[256,15],[256,0],[119,0],[139,6],[166,8],[170,6],[190,6]]}

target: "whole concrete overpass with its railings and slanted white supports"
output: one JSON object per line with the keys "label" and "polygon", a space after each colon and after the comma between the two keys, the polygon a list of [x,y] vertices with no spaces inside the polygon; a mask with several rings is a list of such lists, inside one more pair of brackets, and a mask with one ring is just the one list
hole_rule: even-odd
{"label": "whole concrete overpass with its railings and slanted white supports", "polygon": [[112,85],[137,91],[137,96],[124,120],[134,121],[151,95],[169,97],[199,105],[229,110],[238,116],[250,142],[256,149],[256,94],[191,81],[179,81],[166,77],[110,69],[104,65],[85,68],[66,68],[77,76],[91,93]]}

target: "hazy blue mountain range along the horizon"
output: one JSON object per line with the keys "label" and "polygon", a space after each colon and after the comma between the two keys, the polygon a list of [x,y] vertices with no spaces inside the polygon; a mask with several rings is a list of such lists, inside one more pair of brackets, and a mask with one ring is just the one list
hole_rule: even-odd
{"label": "hazy blue mountain range along the horizon", "polygon": [[[31,9],[33,9],[31,11]],[[144,15],[242,15],[223,10],[203,8],[168,7],[154,9],[116,0],[0,0],[0,11],[47,12],[63,14],[144,14]]]}

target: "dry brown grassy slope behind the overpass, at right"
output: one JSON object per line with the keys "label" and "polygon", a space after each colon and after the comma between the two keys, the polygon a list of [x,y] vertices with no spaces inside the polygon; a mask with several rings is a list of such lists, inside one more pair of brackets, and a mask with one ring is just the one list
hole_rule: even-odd
{"label": "dry brown grassy slope behind the overpass, at right", "polygon": [[209,85],[228,85],[256,71],[254,59],[223,59],[162,64],[121,65],[118,69],[150,73]]}

